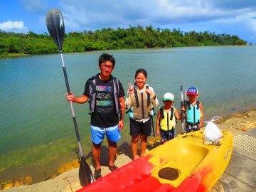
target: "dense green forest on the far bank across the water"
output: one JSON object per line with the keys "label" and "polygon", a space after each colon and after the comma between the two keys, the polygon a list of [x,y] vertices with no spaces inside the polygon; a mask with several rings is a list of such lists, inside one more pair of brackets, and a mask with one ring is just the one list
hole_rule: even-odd
{"label": "dense green forest on the far bank across the water", "polygon": [[[102,28],[96,31],[65,33],[63,52],[140,48],[174,48],[184,46],[241,46],[247,44],[238,36],[214,32],[183,32],[179,28]],[[57,53],[52,38],[45,32],[36,34],[5,32],[0,29],[0,55]]]}

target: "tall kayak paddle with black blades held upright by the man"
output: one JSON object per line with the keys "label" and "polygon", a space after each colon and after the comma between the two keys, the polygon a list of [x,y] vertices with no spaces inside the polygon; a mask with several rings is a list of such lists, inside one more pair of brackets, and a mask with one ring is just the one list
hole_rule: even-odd
{"label": "tall kayak paddle with black blades held upright by the man", "polygon": [[[63,14],[58,9],[51,9],[50,11],[48,11],[48,14],[46,15],[46,26],[48,28],[50,36],[53,38],[54,43],[58,47],[58,50],[60,50],[60,59],[61,59],[62,65],[63,65],[65,85],[67,87],[68,94],[70,94],[70,87],[68,84],[68,75],[65,70],[65,64],[64,64],[64,60],[63,60],[63,52],[62,52],[64,35],[65,35]],[[70,101],[70,107],[71,107],[71,112],[72,112],[72,116],[73,116],[75,133],[76,133],[76,137],[78,139],[78,146],[80,149],[80,157],[81,157],[80,168],[79,168],[79,181],[80,181],[81,186],[87,186],[93,182],[92,170],[90,169],[90,166],[85,161],[85,156],[82,154],[82,146],[80,143],[78,125],[77,125],[77,122],[75,119],[75,112],[73,109],[72,101]]]}

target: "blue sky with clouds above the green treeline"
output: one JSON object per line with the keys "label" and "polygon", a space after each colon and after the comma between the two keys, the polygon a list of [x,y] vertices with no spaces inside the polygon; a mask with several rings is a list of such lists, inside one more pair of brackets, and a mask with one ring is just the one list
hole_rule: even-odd
{"label": "blue sky with clouds above the green treeline", "polygon": [[50,9],[62,11],[66,33],[151,25],[226,33],[256,44],[255,0],[0,0],[0,29],[48,33]]}

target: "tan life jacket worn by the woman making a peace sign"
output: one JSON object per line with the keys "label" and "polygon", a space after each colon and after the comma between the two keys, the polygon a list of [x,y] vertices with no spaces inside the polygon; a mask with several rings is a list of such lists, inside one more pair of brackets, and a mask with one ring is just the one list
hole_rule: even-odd
{"label": "tan life jacket worn by the woman making a peace sign", "polygon": [[[138,92],[137,85],[134,85],[134,98],[132,98],[132,106],[127,112],[129,116],[134,120],[141,120],[151,117],[154,114],[152,110],[153,98],[146,92]],[[149,85],[146,84],[146,89],[149,89]]]}

